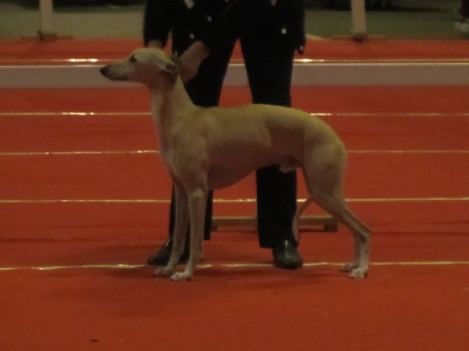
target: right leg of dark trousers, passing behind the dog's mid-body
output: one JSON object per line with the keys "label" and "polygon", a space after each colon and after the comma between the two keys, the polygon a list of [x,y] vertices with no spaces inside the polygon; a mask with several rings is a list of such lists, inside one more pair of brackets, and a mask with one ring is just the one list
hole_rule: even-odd
{"label": "right leg of dark trousers, passing behind the dog's mid-body", "polygon": [[[295,48],[281,31],[259,25],[241,38],[253,103],[291,106],[291,76]],[[259,243],[273,248],[293,238],[296,172],[282,173],[278,165],[255,173]]]}

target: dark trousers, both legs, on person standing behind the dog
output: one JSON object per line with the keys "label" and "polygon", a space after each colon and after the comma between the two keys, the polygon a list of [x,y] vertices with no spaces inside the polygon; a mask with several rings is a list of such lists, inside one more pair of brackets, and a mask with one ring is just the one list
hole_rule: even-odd
{"label": "dark trousers, both legs, on person standing behind the dog", "polygon": [[[281,31],[257,26],[241,38],[253,103],[290,106],[290,85],[295,48]],[[199,106],[216,106],[232,46],[214,52],[200,66],[197,77],[186,88]],[[292,222],[296,210],[296,172],[281,173],[278,165],[256,172],[259,243],[274,248],[280,241],[293,241]],[[213,192],[209,194],[204,238],[210,238]],[[174,228],[174,201],[169,233]]]}

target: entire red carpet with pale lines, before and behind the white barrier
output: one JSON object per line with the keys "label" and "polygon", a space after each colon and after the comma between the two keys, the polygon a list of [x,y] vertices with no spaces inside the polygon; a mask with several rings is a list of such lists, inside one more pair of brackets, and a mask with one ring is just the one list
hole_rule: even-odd
{"label": "entire red carpet with pale lines, before and behind the white barrier", "polygon": [[[0,59],[111,59],[138,45],[1,42]],[[465,59],[466,46],[315,41],[307,55]],[[175,283],[142,266],[167,236],[169,198],[159,156],[127,153],[157,149],[144,89],[0,91],[0,350],[467,350],[468,94],[293,89],[295,107],[324,113],[349,149],[346,197],[374,232],[367,279],[338,271],[352,255],[343,227],[304,232],[299,271],[268,266],[252,231],[228,229],[205,244],[213,266]],[[53,153],[84,151],[103,153]],[[251,177],[216,192],[253,197]],[[122,202],[136,199],[153,202]],[[215,212],[252,215],[254,204]]]}

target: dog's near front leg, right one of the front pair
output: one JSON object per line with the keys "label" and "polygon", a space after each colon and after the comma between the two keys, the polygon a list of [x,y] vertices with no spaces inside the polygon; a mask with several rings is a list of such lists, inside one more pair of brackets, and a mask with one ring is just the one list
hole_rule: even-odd
{"label": "dog's near front leg, right one of the front pair", "polygon": [[200,248],[204,237],[205,210],[207,208],[208,190],[196,189],[188,193],[190,214],[190,256],[186,269],[181,273],[174,273],[172,280],[191,280],[195,266],[200,259]]}

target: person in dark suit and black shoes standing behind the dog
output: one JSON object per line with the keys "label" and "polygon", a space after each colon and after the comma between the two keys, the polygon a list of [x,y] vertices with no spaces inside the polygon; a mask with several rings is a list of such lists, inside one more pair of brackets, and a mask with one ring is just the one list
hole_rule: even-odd
{"label": "person in dark suit and black shoes standing behind the dog", "polygon": [[[291,106],[293,57],[295,50],[303,52],[305,43],[303,0],[148,0],[144,45],[165,47],[169,32],[172,52],[181,59],[181,77],[196,105],[218,105],[239,39],[253,103]],[[302,267],[292,231],[296,173],[282,173],[279,165],[259,169],[256,189],[260,247],[272,248],[276,267]],[[212,201],[210,193],[205,239],[210,237]],[[148,264],[167,264],[173,228],[174,206],[169,239],[148,258]],[[187,257],[188,250],[183,259]]]}

